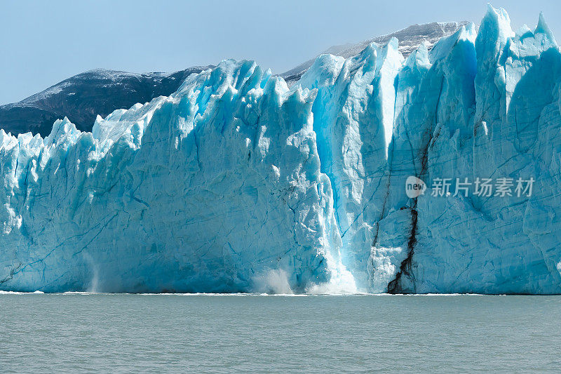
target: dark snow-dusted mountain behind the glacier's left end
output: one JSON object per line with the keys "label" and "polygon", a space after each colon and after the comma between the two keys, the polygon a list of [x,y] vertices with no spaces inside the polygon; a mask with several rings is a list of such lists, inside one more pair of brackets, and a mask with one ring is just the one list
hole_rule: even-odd
{"label": "dark snow-dusted mountain behind the glacier's left end", "polygon": [[57,119],[68,117],[76,128],[91,131],[97,115],[128,109],[137,102],[175,92],[191,74],[208,67],[189,67],[173,73],[130,73],[92,69],[60,81],[19,102],[0,106],[0,127],[4,131],[39,133],[45,137]]}

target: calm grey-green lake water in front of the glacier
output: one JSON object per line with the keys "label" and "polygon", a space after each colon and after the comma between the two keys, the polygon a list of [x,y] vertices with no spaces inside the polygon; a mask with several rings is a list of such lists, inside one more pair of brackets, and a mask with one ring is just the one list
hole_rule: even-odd
{"label": "calm grey-green lake water in front of the glacier", "polygon": [[0,293],[0,371],[536,372],[561,296]]}

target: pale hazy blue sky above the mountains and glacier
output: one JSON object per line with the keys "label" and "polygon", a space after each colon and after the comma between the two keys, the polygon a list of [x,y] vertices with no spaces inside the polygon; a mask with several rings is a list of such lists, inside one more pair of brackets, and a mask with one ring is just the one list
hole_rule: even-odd
{"label": "pale hazy blue sky above the mountains and glacier", "polygon": [[[171,72],[245,58],[280,73],[332,45],[415,23],[479,23],[487,1],[0,0],[0,104],[96,67]],[[561,33],[560,1],[492,4],[506,8],[513,29],[533,27],[543,11]]]}

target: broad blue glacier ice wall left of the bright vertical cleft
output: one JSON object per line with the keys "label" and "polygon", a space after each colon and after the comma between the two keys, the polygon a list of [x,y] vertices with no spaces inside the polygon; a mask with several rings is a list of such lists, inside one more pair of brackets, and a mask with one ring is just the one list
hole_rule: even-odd
{"label": "broad blue glacier ice wall left of the bright vertical cleft", "polygon": [[313,97],[225,61],[93,133],[0,131],[1,287],[237,292],[269,270],[325,283],[340,239]]}

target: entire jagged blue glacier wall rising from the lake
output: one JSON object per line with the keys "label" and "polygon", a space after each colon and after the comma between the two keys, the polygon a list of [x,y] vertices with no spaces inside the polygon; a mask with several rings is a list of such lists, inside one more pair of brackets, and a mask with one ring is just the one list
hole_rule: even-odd
{"label": "entire jagged blue glacier wall rising from the lake", "polygon": [[[560,83],[543,15],[489,6],[290,87],[224,60],[92,132],[2,130],[0,290],[561,293]],[[532,193],[454,194],[501,179]]]}

